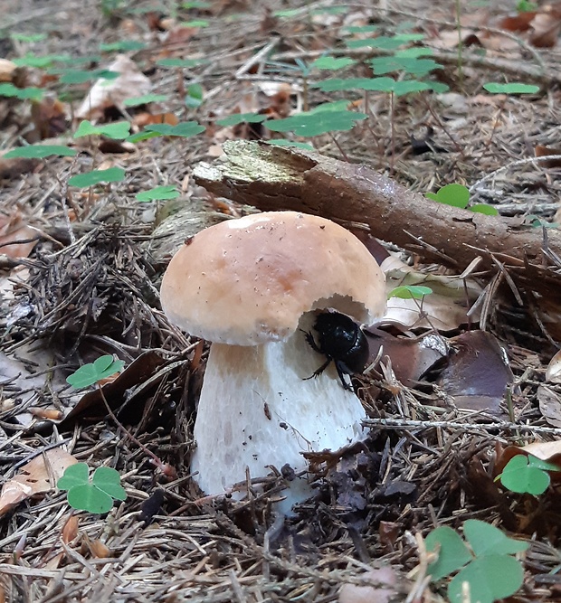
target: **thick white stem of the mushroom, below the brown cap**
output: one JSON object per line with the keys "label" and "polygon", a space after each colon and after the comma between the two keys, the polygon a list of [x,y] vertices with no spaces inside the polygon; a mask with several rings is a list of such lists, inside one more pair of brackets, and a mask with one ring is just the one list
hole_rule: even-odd
{"label": "thick white stem of the mushroom, below the brown cap", "polygon": [[[309,330],[314,315],[305,318]],[[286,342],[212,344],[191,465],[205,493],[222,494],[245,479],[246,467],[252,477],[266,476],[269,465],[300,471],[307,467],[301,452],[337,450],[362,437],[362,404],[343,388],[333,363],[305,381],[324,361],[300,330]],[[299,481],[287,503],[309,492]]]}

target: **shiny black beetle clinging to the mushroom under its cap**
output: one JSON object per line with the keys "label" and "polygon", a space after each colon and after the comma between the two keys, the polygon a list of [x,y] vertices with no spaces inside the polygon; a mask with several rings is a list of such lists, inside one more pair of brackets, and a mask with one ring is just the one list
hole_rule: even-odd
{"label": "shiny black beetle clinging to the mushroom under its cap", "polygon": [[338,312],[320,314],[313,328],[318,333],[319,343],[311,333],[305,331],[306,341],[316,352],[324,354],[327,360],[307,379],[318,377],[333,361],[343,387],[352,391],[343,375],[364,370],[369,355],[366,335],[355,321]]}

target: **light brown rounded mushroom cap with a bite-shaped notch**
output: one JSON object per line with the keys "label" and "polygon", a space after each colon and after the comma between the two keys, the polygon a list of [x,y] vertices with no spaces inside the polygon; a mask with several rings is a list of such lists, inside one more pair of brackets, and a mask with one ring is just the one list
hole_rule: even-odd
{"label": "light brown rounded mushroom cap with a bite-shaped notch", "polygon": [[209,341],[285,340],[300,316],[333,308],[370,324],[385,312],[385,277],[354,234],[300,212],[223,221],[185,241],[162,280],[166,316]]}

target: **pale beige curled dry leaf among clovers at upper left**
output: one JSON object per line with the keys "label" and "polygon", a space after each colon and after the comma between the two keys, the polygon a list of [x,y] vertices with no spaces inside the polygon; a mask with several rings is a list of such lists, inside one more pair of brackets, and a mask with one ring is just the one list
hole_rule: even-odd
{"label": "pale beige curled dry leaf among clovers at upper left", "polygon": [[150,91],[150,80],[124,54],[119,54],[108,70],[119,73],[119,77],[115,80],[97,80],[76,111],[76,118],[100,119],[106,108],[117,107],[122,110],[126,99],[141,97]]}

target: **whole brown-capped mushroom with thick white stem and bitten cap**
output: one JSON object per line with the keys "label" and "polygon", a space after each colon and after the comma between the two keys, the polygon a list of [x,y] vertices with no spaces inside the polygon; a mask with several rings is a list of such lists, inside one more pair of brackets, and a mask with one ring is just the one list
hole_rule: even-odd
{"label": "whole brown-capped mushroom with thick white stem and bitten cap", "polygon": [[[191,470],[208,495],[270,466],[307,467],[302,452],[363,435],[365,412],[306,339],[319,310],[371,324],[385,311],[385,277],[335,222],[263,212],[200,231],[177,251],[160,290],[166,316],[212,342],[195,419]],[[313,334],[313,330],[312,330]],[[284,505],[310,493],[296,479]]]}

